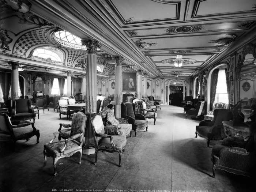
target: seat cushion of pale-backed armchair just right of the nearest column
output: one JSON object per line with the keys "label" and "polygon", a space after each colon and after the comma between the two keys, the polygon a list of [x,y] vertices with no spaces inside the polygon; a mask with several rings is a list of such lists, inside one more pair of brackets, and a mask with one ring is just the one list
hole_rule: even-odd
{"label": "seat cushion of pale-backed armchair just right of the nearest column", "polygon": [[102,138],[101,140],[99,140],[98,146],[100,148],[105,148],[108,150],[122,150],[126,145],[125,135],[113,135],[112,137],[113,137],[112,141],[116,146],[114,149],[111,146],[110,138]]}

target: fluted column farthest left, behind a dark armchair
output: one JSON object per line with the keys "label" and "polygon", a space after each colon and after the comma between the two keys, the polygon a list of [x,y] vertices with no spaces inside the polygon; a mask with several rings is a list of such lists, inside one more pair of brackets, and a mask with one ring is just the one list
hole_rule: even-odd
{"label": "fluted column farthest left, behind a dark armchair", "polygon": [[12,81],[11,81],[11,99],[19,99],[19,63],[9,62],[12,65]]}

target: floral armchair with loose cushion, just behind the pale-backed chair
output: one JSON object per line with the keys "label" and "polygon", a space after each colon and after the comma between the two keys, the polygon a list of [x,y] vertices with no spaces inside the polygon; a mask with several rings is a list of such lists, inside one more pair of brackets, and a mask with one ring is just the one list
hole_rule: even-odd
{"label": "floral armchair with loose cushion, just behind the pale-backed chair", "polygon": [[[102,117],[103,124],[105,126],[113,125],[113,128],[116,129],[116,130],[113,130],[113,133],[115,133],[115,134],[111,134],[111,135],[125,135],[125,136],[130,135],[130,137],[131,137],[131,135],[132,135],[132,124],[128,124],[128,121],[125,118],[116,118],[114,116],[114,110],[113,109],[105,107],[100,112],[100,115]],[[109,129],[108,133],[111,133],[110,132],[111,130],[112,129]]]}

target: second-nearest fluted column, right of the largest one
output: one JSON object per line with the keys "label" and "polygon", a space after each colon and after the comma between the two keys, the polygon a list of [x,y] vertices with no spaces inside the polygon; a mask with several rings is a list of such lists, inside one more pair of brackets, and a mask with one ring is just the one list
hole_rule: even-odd
{"label": "second-nearest fluted column, right of the largest one", "polygon": [[115,67],[115,116],[116,118],[121,117],[121,102],[122,102],[122,62],[124,61],[123,57],[114,57],[116,60]]}

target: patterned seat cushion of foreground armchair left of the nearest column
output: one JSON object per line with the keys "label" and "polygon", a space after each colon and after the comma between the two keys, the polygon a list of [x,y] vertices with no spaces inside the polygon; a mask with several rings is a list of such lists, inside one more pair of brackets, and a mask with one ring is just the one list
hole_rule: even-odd
{"label": "patterned seat cushion of foreground armchair left of the nearest column", "polygon": [[67,143],[66,149],[63,151],[63,153],[60,153],[60,150],[64,147],[64,144],[65,144],[65,141],[62,140],[54,143],[47,143],[44,145],[44,148],[47,151],[47,153],[51,154],[53,157],[59,157],[60,155],[65,155],[70,153],[71,151],[75,151],[81,148],[74,141],[69,141]]}

